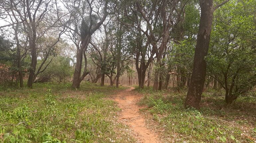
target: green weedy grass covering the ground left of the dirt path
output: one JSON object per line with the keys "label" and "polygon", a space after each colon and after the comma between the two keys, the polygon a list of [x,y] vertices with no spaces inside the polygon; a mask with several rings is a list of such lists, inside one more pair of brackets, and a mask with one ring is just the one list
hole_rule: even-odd
{"label": "green weedy grass covering the ground left of the dirt path", "polygon": [[106,97],[116,89],[83,83],[34,84],[33,89],[0,88],[0,142],[130,143],[118,124],[120,109]]}

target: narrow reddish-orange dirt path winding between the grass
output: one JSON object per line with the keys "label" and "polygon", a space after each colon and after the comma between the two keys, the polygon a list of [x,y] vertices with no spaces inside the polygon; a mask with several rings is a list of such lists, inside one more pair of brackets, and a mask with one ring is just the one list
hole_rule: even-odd
{"label": "narrow reddish-orange dirt path winding between the grass", "polygon": [[114,98],[118,106],[122,109],[119,120],[129,125],[134,131],[134,137],[138,143],[160,143],[154,131],[149,130],[145,125],[143,116],[139,113],[139,107],[136,103],[142,97],[134,95],[132,89],[126,89],[117,94]]}

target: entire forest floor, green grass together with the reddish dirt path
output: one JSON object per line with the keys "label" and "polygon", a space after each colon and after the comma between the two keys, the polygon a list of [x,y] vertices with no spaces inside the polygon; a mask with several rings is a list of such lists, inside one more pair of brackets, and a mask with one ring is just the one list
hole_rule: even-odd
{"label": "entire forest floor, green grass together with the reddish dirt path", "polygon": [[154,91],[82,83],[0,86],[0,142],[256,143],[256,98],[227,106],[203,92],[200,110],[185,109],[186,89]]}

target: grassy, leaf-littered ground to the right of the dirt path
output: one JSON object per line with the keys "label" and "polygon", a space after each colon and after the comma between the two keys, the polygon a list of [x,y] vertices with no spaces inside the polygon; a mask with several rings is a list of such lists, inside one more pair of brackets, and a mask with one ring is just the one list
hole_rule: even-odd
{"label": "grassy, leaf-littered ground to the right of the dirt path", "polygon": [[223,96],[209,91],[203,93],[198,111],[184,108],[185,90],[180,93],[154,92],[151,88],[136,90],[145,95],[139,104],[147,105],[143,110],[155,121],[148,122],[163,132],[166,142],[256,142],[255,97],[241,97],[226,106]]}

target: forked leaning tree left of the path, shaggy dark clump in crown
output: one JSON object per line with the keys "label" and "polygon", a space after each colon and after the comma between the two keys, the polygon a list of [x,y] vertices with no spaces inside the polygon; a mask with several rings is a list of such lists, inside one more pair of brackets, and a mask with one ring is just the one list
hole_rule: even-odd
{"label": "forked leaning tree left of the path, shaggy dark clump in crown", "polygon": [[[95,8],[94,8],[95,6]],[[67,28],[69,29],[68,36],[74,42],[77,48],[76,63],[73,74],[73,88],[79,88],[81,81],[89,73],[87,70],[86,50],[90,43],[91,36],[99,29],[100,25],[105,21],[107,13],[108,1],[102,3],[100,1],[87,0],[86,2],[79,0],[71,4],[66,1],[65,7],[70,11]],[[82,7],[81,11],[80,8]],[[97,14],[103,9],[103,16],[99,18]],[[95,14],[93,14],[95,12]],[[98,21],[98,19],[100,19]],[[80,29],[80,31],[79,31]],[[84,70],[81,75],[82,61],[84,58]]]}

